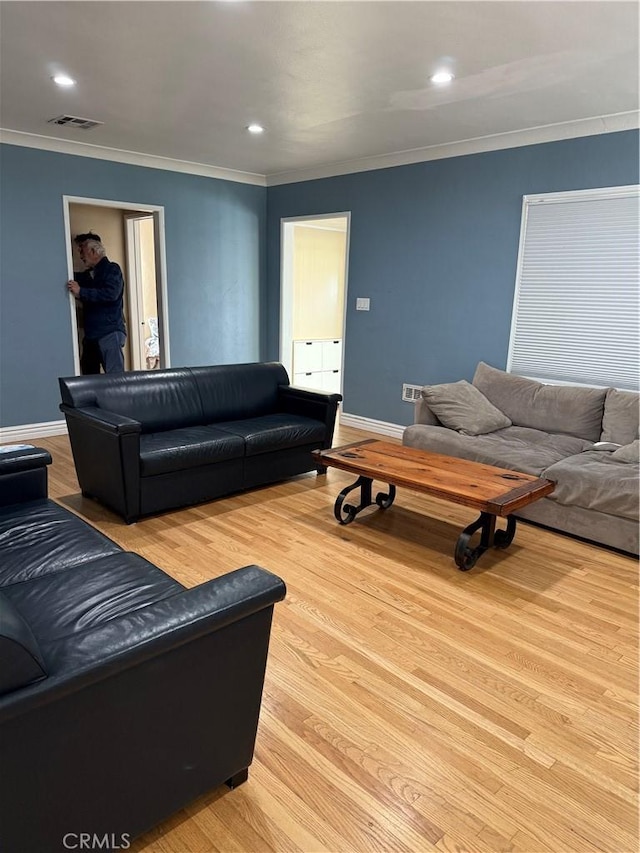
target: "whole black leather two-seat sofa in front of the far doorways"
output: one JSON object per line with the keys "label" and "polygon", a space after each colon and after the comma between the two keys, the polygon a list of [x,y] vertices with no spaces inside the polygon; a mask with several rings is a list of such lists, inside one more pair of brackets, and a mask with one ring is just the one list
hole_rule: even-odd
{"label": "whole black leather two-seat sofa in front of the far doorways", "polygon": [[141,516],[318,467],[340,394],[289,385],[277,363],[61,378],[82,494]]}

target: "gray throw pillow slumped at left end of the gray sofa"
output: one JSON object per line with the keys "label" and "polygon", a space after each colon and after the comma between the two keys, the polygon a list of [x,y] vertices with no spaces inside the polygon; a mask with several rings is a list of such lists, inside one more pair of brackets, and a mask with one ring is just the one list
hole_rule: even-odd
{"label": "gray throw pillow slumped at left end of the gray sofa", "polygon": [[511,426],[509,418],[464,379],[425,385],[422,396],[440,423],[465,435],[484,435]]}

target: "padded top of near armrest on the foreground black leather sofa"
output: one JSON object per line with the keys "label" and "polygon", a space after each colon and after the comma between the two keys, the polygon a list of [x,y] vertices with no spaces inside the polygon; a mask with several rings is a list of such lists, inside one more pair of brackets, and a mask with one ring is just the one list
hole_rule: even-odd
{"label": "padded top of near armrest on the foreground black leather sofa", "polygon": [[277,575],[245,566],[97,628],[41,644],[49,677],[2,697],[0,722],[272,608],[285,594]]}

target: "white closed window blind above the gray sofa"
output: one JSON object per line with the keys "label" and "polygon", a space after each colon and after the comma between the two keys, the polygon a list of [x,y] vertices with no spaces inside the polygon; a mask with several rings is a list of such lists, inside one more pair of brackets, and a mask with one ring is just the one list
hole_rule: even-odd
{"label": "white closed window blind above the gray sofa", "polygon": [[510,372],[637,390],[639,191],[524,197]]}

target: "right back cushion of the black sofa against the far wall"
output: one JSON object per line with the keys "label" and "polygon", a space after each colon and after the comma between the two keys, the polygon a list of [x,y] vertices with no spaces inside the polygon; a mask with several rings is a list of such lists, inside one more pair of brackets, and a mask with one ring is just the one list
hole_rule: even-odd
{"label": "right back cushion of the black sofa against the far wall", "polygon": [[200,399],[202,423],[253,418],[278,410],[278,386],[289,376],[277,362],[192,367]]}

